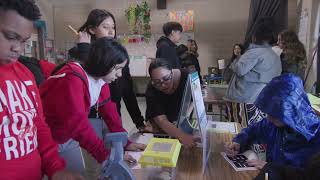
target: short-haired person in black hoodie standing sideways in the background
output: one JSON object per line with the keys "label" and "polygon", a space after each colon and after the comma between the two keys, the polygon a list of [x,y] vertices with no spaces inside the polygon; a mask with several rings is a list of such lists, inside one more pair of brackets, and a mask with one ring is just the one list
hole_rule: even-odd
{"label": "short-haired person in black hoodie standing sideways in the background", "polygon": [[176,43],[181,39],[182,26],[178,22],[167,22],[162,29],[165,36],[157,41],[156,58],[165,59],[172,68],[181,68]]}

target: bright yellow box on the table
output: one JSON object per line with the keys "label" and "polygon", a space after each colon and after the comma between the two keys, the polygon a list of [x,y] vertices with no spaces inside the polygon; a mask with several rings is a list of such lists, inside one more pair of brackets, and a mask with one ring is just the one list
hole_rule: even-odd
{"label": "bright yellow box on the table", "polygon": [[177,139],[152,138],[139,163],[141,166],[176,167],[180,149]]}

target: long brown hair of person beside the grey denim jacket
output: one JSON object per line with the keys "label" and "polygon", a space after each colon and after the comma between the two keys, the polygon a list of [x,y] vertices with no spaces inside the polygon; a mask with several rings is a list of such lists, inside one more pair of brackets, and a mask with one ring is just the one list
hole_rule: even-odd
{"label": "long brown hair of person beside the grey denim jacket", "polygon": [[288,63],[305,63],[306,50],[297,34],[291,30],[282,31],[279,34],[283,44],[283,54]]}

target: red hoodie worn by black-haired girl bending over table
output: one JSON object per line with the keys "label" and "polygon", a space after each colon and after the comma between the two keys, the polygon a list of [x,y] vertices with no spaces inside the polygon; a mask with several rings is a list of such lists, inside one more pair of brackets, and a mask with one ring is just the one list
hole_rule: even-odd
{"label": "red hoodie worn by black-haired girl bending over table", "polygon": [[[62,144],[74,139],[98,162],[103,162],[109,150],[88,120],[90,94],[85,71],[76,63],[66,64],[40,86],[40,94],[46,121],[56,142]],[[125,132],[116,105],[110,101],[107,84],[102,87],[98,102],[99,113],[109,130]]]}

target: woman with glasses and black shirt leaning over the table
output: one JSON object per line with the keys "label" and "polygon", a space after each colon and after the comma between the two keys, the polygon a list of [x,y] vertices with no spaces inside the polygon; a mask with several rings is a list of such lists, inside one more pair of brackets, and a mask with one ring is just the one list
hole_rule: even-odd
{"label": "woman with glasses and black shirt leaning over the table", "polygon": [[149,66],[149,74],[151,82],[146,90],[146,119],[153,125],[153,132],[165,132],[187,147],[194,146],[193,136],[173,124],[178,120],[188,72],[172,69],[163,59],[156,59]]}

